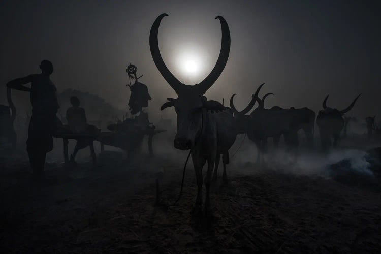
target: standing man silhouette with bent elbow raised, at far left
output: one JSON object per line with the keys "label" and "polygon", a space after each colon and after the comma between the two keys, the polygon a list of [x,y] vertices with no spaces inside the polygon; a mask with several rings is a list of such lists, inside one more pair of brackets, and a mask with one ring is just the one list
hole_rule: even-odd
{"label": "standing man silhouette with bent elbow raised, at far left", "polygon": [[[53,134],[56,131],[56,113],[59,108],[56,88],[50,80],[53,65],[48,60],[40,63],[41,74],[31,74],[7,83],[7,87],[30,92],[32,115],[29,122],[26,150],[29,155],[33,178],[44,177],[46,153],[53,150]],[[24,86],[31,83],[30,88]]]}

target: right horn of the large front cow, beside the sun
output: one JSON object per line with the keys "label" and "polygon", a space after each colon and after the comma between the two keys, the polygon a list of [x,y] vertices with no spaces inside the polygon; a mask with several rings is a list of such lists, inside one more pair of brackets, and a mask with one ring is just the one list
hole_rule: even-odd
{"label": "right horn of the large front cow, beside the sun", "polygon": [[217,16],[216,19],[219,19],[221,23],[221,30],[222,30],[221,49],[219,51],[219,56],[213,70],[203,81],[201,81],[197,85],[198,87],[200,87],[199,89],[202,94],[204,94],[218,79],[219,75],[221,75],[221,73],[223,72],[226,66],[226,62],[228,61],[228,58],[229,58],[229,52],[230,52],[229,26],[223,17]]}

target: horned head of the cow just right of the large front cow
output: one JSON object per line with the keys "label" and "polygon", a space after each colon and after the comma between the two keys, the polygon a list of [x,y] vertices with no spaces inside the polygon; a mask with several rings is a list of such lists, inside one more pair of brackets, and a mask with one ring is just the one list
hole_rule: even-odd
{"label": "horned head of the cow just right of the large front cow", "polygon": [[254,104],[256,104],[256,102],[258,102],[258,108],[256,110],[264,109],[266,97],[269,96],[270,94],[273,94],[273,93],[267,93],[267,94],[265,94],[265,96],[262,99],[260,99],[258,97],[259,91],[261,90],[261,88],[262,88],[262,86],[264,84],[265,83],[263,83],[262,85],[260,85],[258,87],[258,89],[255,92],[255,94],[253,94],[251,96],[252,98],[251,98],[250,103],[242,111],[238,111],[236,109],[236,107],[234,106],[233,98],[234,98],[234,96],[236,96],[236,94],[233,94],[232,97],[230,98],[230,107],[232,108],[232,111],[234,113],[234,119],[236,121],[236,126],[237,126],[238,133],[240,133],[240,134],[246,133],[247,127],[248,127],[247,124],[248,124],[248,121],[249,121],[248,120],[249,116],[246,115],[246,114],[253,108]]}

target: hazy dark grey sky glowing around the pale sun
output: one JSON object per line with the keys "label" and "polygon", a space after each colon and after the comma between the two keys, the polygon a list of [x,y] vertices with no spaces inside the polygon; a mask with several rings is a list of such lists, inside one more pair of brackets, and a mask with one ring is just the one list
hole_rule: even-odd
{"label": "hazy dark grey sky glowing around the pale sun", "polygon": [[[230,27],[231,51],[224,72],[206,93],[243,108],[261,83],[274,92],[266,107],[342,109],[362,97],[348,115],[381,118],[381,15],[377,2],[352,1],[1,1],[0,82],[39,72],[42,59],[53,62],[58,91],[96,93],[127,109],[128,63],[138,67],[150,91],[151,119],[175,93],[157,71],[149,51],[155,18],[168,13],[159,30],[168,68],[186,84],[198,83],[213,68],[221,28]],[[199,72],[184,72],[192,58]],[[5,87],[0,102],[6,104]],[[15,92],[19,108],[27,94]],[[163,112],[173,115],[173,109]],[[155,116],[154,116],[155,114]]]}

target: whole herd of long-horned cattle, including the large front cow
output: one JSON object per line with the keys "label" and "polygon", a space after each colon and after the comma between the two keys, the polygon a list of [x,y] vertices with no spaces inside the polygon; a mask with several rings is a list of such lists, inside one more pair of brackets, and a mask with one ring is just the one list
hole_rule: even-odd
{"label": "whole herd of long-horned cattle, including the large front cow", "polygon": [[[167,107],[174,107],[177,115],[177,133],[174,139],[174,146],[180,150],[190,150],[193,165],[196,173],[198,192],[196,198],[195,212],[202,210],[202,186],[203,176],[202,168],[207,162],[208,168],[205,177],[206,199],[205,213],[210,208],[209,190],[211,181],[217,177],[217,168],[220,155],[223,157],[224,173],[226,179],[226,164],[229,163],[229,149],[235,142],[238,134],[247,134],[250,141],[258,147],[257,161],[261,162],[266,151],[267,139],[272,137],[275,145],[278,144],[280,136],[283,135],[285,144],[289,148],[295,148],[299,145],[298,131],[303,130],[309,146],[313,145],[315,113],[308,108],[290,108],[284,109],[274,106],[265,109],[265,98],[272,93],[265,94],[259,98],[259,86],[249,105],[242,111],[238,111],[230,99],[230,108],[224,107],[217,101],[207,100],[205,92],[217,80],[223,72],[227,63],[230,51],[230,31],[226,20],[217,16],[222,30],[222,40],[220,53],[211,73],[199,84],[182,84],[166,67],[158,47],[158,28],[162,19],[168,16],[161,14],[154,21],[150,36],[149,45],[151,55],[155,65],[175,90],[177,98],[168,98],[161,110]],[[316,124],[319,127],[322,147],[329,149],[332,145],[336,146],[340,137],[340,132],[344,127],[343,114],[350,111],[356,103],[356,99],[344,110],[337,110],[327,107],[328,96],[323,102],[323,109],[319,111],[316,118]],[[258,103],[258,107],[247,115],[247,113]],[[333,144],[332,144],[333,140]],[[213,174],[214,168],[214,174]]]}

